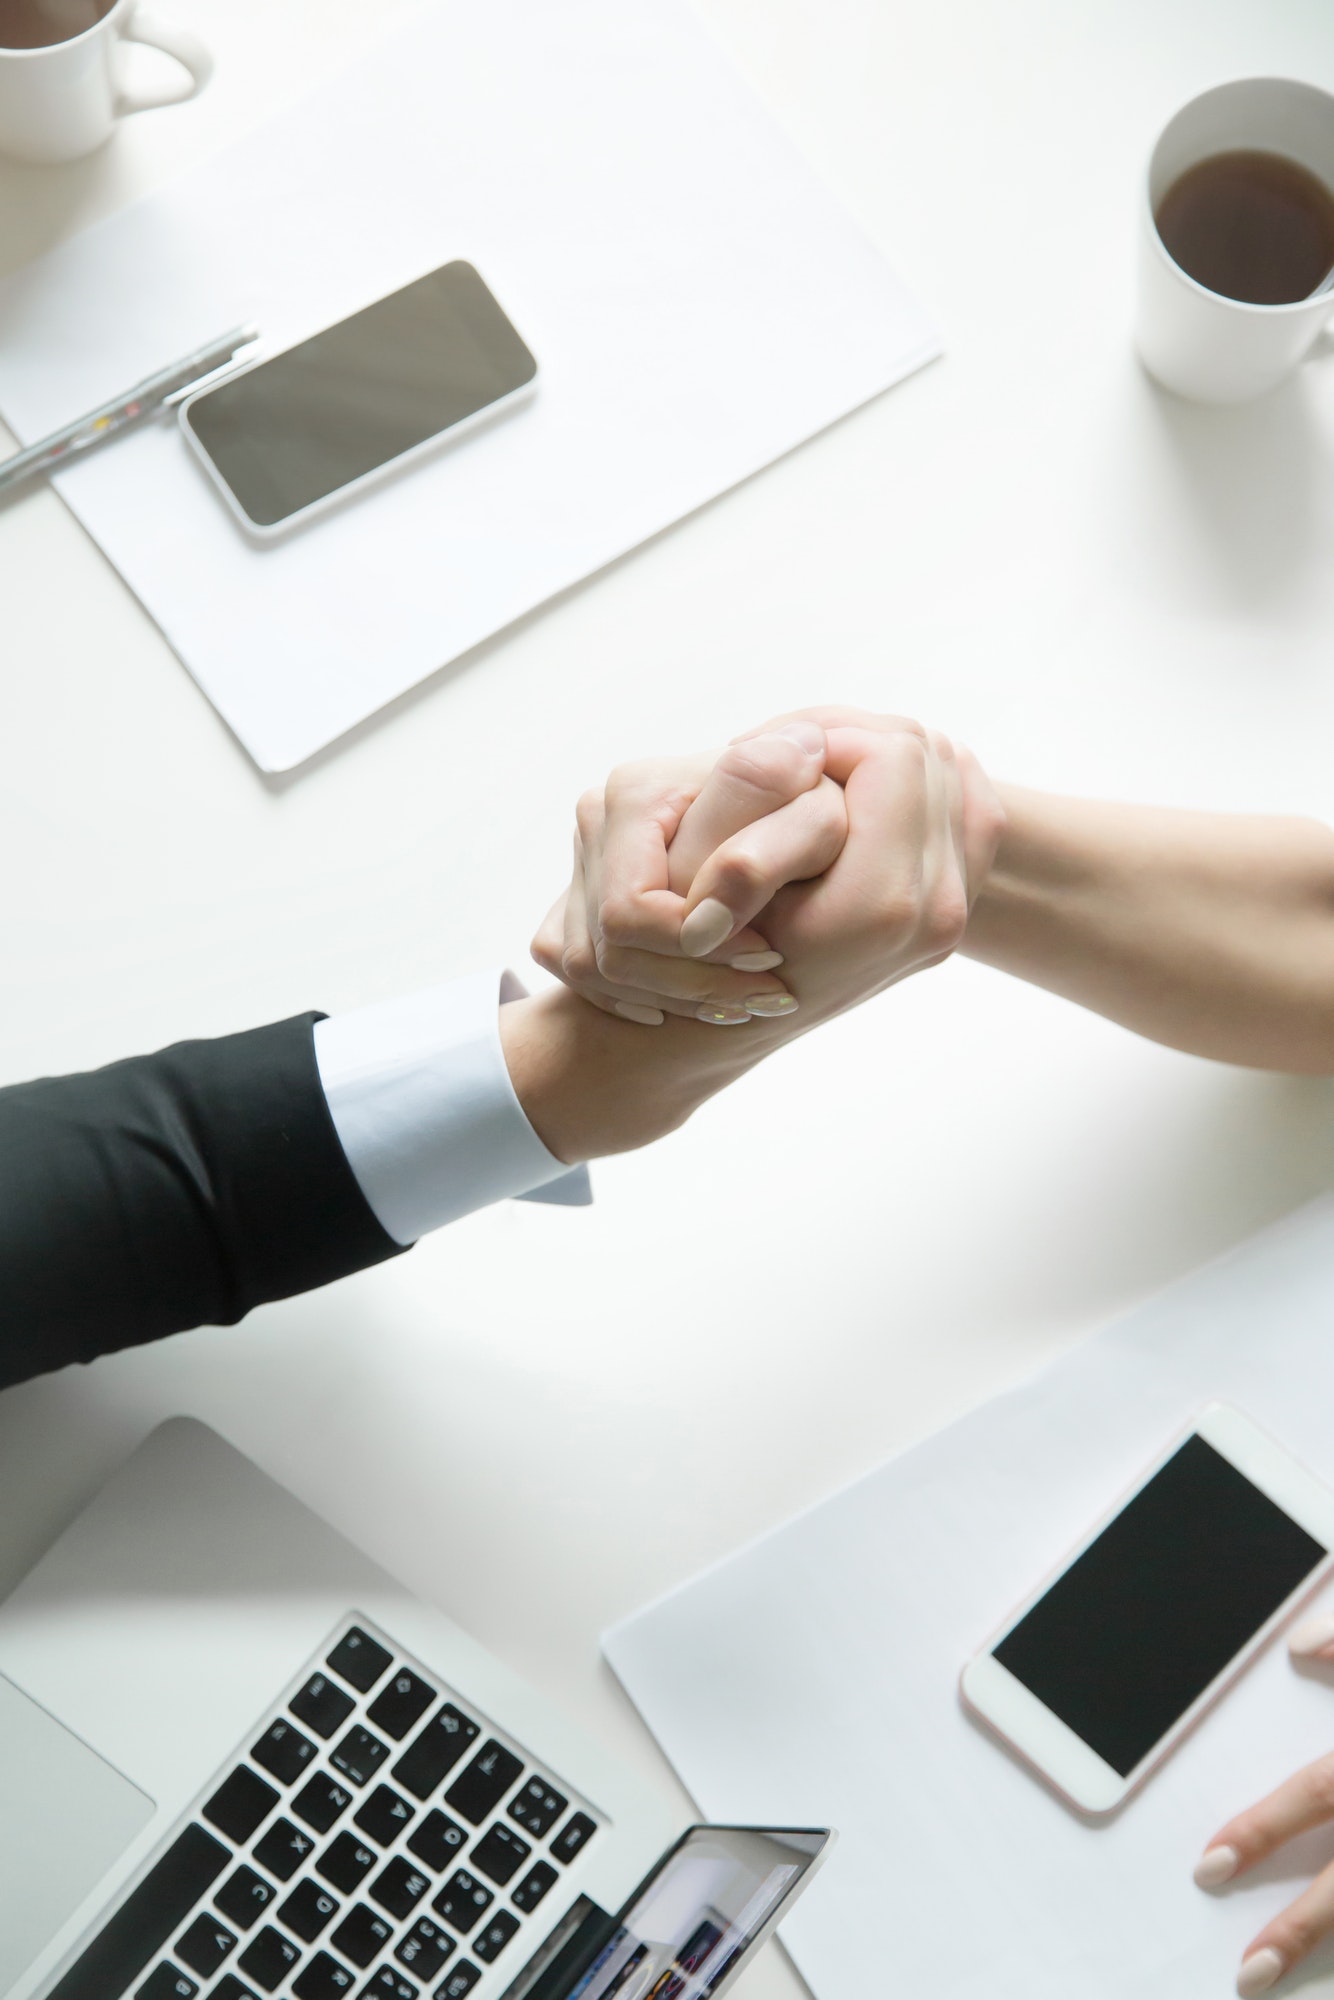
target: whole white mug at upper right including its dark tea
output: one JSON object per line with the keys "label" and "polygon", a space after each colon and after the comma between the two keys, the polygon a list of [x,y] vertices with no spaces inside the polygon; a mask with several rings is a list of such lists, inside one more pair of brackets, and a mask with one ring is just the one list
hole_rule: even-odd
{"label": "whole white mug at upper right including its dark tea", "polygon": [[1334,98],[1274,76],[1192,98],[1148,162],[1144,366],[1194,402],[1248,402],[1298,366],[1332,316]]}

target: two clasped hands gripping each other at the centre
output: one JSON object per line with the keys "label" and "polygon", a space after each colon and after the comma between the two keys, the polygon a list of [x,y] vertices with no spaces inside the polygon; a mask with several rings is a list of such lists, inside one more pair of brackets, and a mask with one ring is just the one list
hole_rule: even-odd
{"label": "two clasped hands gripping each other at the centre", "polygon": [[[588,794],[576,878],[534,956],[596,1006],[632,1008],[646,1024],[698,1012],[802,1032],[954,950],[1002,824],[976,760],[916,722],[860,710],[780,718],[704,780],[698,762],[648,764]],[[714,970],[738,960],[770,976],[750,974],[738,992]]]}

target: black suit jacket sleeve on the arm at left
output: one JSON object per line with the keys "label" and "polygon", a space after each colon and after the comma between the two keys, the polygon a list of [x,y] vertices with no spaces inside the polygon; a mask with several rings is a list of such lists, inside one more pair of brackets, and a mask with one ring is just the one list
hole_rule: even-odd
{"label": "black suit jacket sleeve on the arm at left", "polygon": [[0,1386],[394,1256],[338,1144],[316,1020],[0,1090]]}

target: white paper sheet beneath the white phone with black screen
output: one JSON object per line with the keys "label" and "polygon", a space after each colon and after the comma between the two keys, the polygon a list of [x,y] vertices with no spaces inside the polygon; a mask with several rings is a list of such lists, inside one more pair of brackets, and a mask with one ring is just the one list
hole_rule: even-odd
{"label": "white paper sheet beneath the white phone with black screen", "polygon": [[[1222,2000],[1334,1854],[1326,1830],[1224,1894],[1190,1880],[1334,1744],[1334,1676],[1282,1644],[1106,1824],[958,1706],[968,1654],[1214,1396],[1334,1482],[1332,1200],[608,1634],[702,1812],[840,1828],[782,1930],[820,2000]],[[1332,1980],[1326,1950],[1284,1992]]]}

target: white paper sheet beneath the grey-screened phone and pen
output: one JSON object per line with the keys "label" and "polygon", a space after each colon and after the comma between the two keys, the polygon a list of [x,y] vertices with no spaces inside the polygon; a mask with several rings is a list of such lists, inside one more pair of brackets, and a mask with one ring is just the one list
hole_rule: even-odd
{"label": "white paper sheet beneath the grey-screened phone and pen", "polygon": [[268,548],[174,426],[60,492],[264,770],[938,352],[680,0],[472,0],[0,282],[32,440],[228,326],[280,346],[454,256],[528,408]]}

